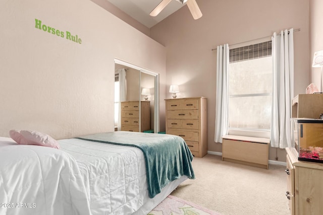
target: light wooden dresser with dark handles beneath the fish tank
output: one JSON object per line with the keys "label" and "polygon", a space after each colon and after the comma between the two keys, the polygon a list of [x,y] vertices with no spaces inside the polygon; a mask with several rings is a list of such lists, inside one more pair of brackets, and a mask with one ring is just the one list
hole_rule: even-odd
{"label": "light wooden dresser with dark handles beneath the fish tank", "polygon": [[291,214],[323,214],[323,164],[298,161],[294,148],[286,148],[286,152],[286,196]]}

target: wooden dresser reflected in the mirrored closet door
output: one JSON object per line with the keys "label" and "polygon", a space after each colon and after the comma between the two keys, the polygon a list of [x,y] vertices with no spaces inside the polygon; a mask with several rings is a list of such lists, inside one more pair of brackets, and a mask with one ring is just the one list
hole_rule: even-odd
{"label": "wooden dresser reflected in the mirrored closet door", "polygon": [[[121,102],[121,130],[143,132],[150,129],[150,102],[140,101],[141,112],[139,116],[139,101]],[[140,120],[139,120],[140,117]],[[139,130],[140,122],[140,130]]]}

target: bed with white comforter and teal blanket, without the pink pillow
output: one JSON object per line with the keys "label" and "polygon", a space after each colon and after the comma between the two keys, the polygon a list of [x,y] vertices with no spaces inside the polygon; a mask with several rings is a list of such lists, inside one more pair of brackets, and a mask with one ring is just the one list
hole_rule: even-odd
{"label": "bed with white comforter and teal blanket, without the pink pillow", "polygon": [[194,179],[178,136],[117,131],[58,142],[59,150],[0,137],[0,214],[147,214]]}

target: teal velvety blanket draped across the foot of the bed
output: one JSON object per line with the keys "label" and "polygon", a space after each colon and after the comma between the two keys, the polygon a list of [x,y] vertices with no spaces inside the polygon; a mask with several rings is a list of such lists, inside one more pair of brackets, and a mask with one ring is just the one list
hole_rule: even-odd
{"label": "teal velvety blanket draped across the foot of the bed", "polygon": [[182,137],[170,134],[115,131],[77,138],[139,148],[146,162],[150,198],[160,193],[169,182],[183,175],[189,179],[195,179],[191,164],[193,156]]}

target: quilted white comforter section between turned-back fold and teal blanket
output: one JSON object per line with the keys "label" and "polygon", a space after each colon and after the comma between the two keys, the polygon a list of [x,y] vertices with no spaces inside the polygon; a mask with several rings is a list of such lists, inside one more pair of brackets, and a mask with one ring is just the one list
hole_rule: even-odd
{"label": "quilted white comforter section between turned-back fold and teal blanket", "polygon": [[93,215],[132,214],[149,198],[139,149],[81,139],[59,143],[77,160]]}

